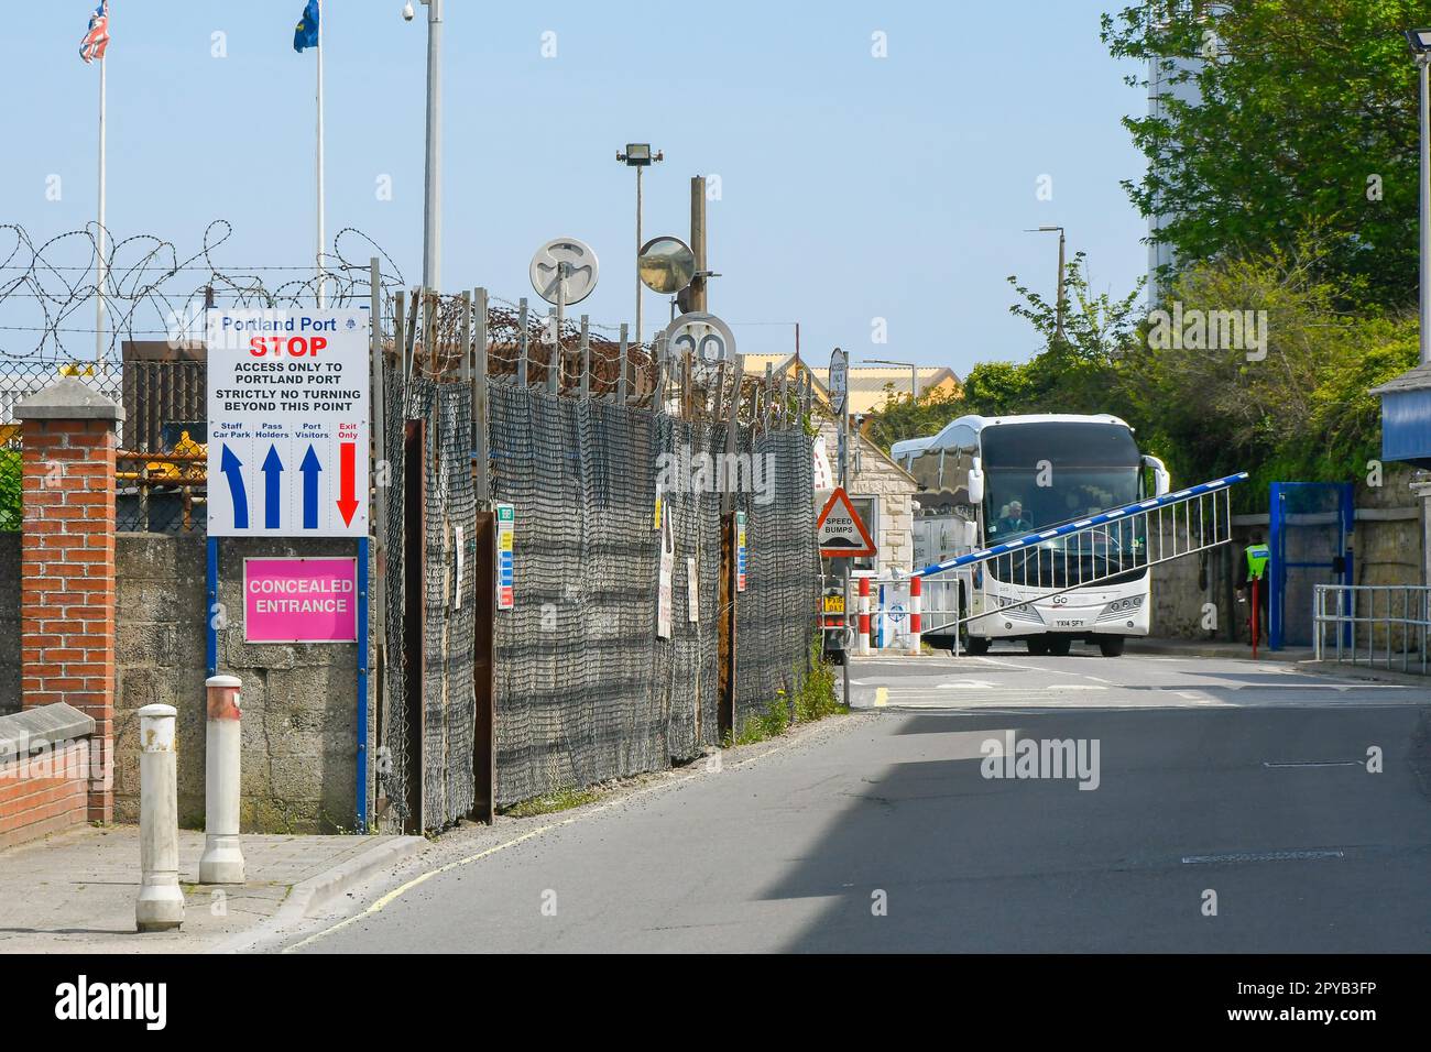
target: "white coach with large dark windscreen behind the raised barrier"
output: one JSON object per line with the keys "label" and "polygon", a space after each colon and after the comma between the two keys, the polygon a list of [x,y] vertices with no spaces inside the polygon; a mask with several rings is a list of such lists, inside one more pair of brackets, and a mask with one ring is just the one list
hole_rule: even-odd
{"label": "white coach with large dark windscreen behind the raised barrier", "polygon": [[[1162,461],[1109,415],[960,417],[932,438],[896,442],[892,455],[922,487],[916,568],[1168,492]],[[995,640],[1066,654],[1082,640],[1122,654],[1129,635],[1148,634],[1151,605],[1149,567],[1138,565],[1148,542],[1141,527],[1125,527],[930,575],[924,640],[952,648],[957,638],[970,654]],[[1075,580],[1093,583],[1070,588]]]}

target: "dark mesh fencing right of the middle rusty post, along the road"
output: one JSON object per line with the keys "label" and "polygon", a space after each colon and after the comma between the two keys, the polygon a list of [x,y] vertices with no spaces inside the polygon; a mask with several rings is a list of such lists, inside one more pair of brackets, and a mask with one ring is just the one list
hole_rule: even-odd
{"label": "dark mesh fencing right of the middle rusty post, along the road", "polygon": [[[494,381],[492,498],[515,510],[515,608],[497,615],[497,803],[660,770],[720,744],[721,491],[746,487],[737,727],[800,688],[817,588],[810,438]],[[707,459],[708,458],[708,459]],[[731,468],[733,464],[740,467]],[[657,484],[674,537],[657,628]],[[731,474],[734,471],[734,474]],[[741,481],[744,479],[744,481]],[[758,482],[751,488],[748,482]],[[694,570],[695,588],[691,588]]]}

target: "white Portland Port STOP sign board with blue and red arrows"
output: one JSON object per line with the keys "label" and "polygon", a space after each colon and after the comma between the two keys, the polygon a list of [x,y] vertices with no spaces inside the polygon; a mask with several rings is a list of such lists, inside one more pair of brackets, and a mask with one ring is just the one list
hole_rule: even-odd
{"label": "white Portland Port STOP sign board with blue and red arrows", "polygon": [[368,535],[368,311],[207,315],[209,535]]}

